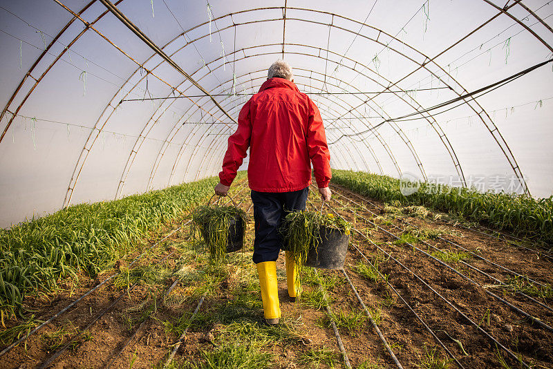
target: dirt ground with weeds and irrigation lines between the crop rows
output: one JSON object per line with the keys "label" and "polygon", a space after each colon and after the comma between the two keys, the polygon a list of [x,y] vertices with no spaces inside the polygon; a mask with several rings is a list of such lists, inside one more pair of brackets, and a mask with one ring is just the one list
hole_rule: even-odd
{"label": "dirt ground with weeds and irrigation lines between the crop rows", "polygon": [[[237,188],[234,194],[252,218],[249,191]],[[552,263],[543,254],[454,227],[444,222],[445,216],[424,209],[384,210],[382,203],[338,188],[334,198],[332,211],[360,232],[352,231],[344,270],[404,368],[521,366],[490,337],[524,363],[552,368],[553,332],[508,306],[553,325],[548,309],[553,305]],[[308,209],[318,211],[320,205],[311,191]],[[32,334],[26,344],[0,357],[0,367],[39,367],[67,346],[51,367],[106,368],[113,361],[112,368],[158,368],[185,329],[172,368],[344,366],[324,308],[325,294],[353,368],[396,368],[341,271],[321,269],[317,276],[306,268],[301,302],[292,303],[281,255],[277,269],[283,319],[278,327],[264,325],[252,238],[250,222],[243,252],[229,254],[221,267],[211,267],[201,243],[183,227],[149,250],[133,265],[138,268],[134,272],[126,266],[136,255],[93,281],[83,277],[56,296],[28,299],[27,307],[36,316],[49,317],[105,278],[124,276],[112,278]],[[147,246],[151,244],[144,250]],[[205,301],[191,319],[203,294]],[[8,327],[18,323],[9,321]]]}

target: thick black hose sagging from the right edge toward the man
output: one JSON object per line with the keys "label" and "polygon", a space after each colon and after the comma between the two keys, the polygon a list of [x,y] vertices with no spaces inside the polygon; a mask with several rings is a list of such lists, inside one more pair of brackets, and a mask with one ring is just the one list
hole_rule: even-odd
{"label": "thick black hose sagging from the right edge toward the man", "polygon": [[[372,126],[370,129],[366,129],[365,131],[361,131],[361,132],[358,132],[358,133],[351,133],[351,134],[348,134],[348,135],[341,135],[339,138],[337,138],[335,141],[333,142],[330,142],[328,143],[329,145],[330,144],[335,144],[336,142],[338,142],[339,140],[341,140],[341,138],[344,138],[344,137],[353,137],[353,136],[357,136],[357,135],[363,135],[364,133],[368,133],[368,132],[371,132],[371,131],[375,131],[376,129],[378,129],[380,126],[382,126],[383,124],[385,124],[386,122],[405,122],[406,120],[410,120],[410,119],[406,119],[406,118],[409,118],[409,117],[413,117],[415,115],[421,115],[421,114],[424,114],[424,113],[429,113],[431,111],[434,111],[435,109],[438,109],[438,108],[443,108],[444,106],[449,106],[451,104],[454,104],[456,102],[459,102],[461,100],[465,100],[467,99],[468,97],[473,97],[474,95],[478,95],[479,93],[482,93],[481,95],[478,95],[477,97],[480,97],[482,95],[485,95],[486,93],[490,93],[491,91],[494,91],[496,88],[499,88],[501,86],[505,86],[505,84],[508,84],[509,82],[513,82],[514,80],[522,77],[523,75],[526,75],[527,73],[530,73],[532,72],[532,70],[535,70],[537,68],[540,68],[541,66],[545,66],[545,64],[548,64],[550,62],[552,62],[553,59],[549,59],[549,60],[546,60],[546,61],[542,61],[541,63],[539,64],[536,64],[534,66],[531,66],[530,68],[527,68],[525,70],[522,70],[521,72],[518,72],[518,73],[515,73],[514,75],[511,75],[505,79],[502,79],[498,82],[494,82],[493,84],[489,84],[488,86],[485,86],[485,87],[482,87],[482,88],[478,88],[478,90],[476,91],[472,91],[471,93],[466,93],[465,95],[460,95],[454,99],[451,99],[451,100],[448,100],[447,102],[442,102],[441,104],[438,104],[438,105],[434,105],[434,106],[431,106],[430,108],[427,108],[427,109],[424,109],[422,111],[415,111],[413,113],[409,113],[409,114],[406,114],[406,115],[402,115],[400,117],[395,117],[395,118],[389,118],[389,119],[386,119],[386,120],[383,120],[382,122],[380,122],[379,124],[375,124],[375,126]],[[473,98],[476,98],[476,97],[473,97]],[[438,113],[434,113],[434,114],[431,114],[432,116],[435,116],[435,115],[438,115],[438,114],[442,114],[442,113],[445,113],[446,111],[450,111],[451,109],[453,108],[457,108],[458,106],[462,106],[464,104],[467,104],[467,102],[462,102],[461,104],[458,104],[456,106],[453,106],[452,108],[449,108],[449,109],[446,109],[444,111],[440,111]],[[424,115],[422,117],[417,117],[417,118],[413,118],[411,120],[418,120],[418,119],[426,119],[427,117],[424,117]]]}

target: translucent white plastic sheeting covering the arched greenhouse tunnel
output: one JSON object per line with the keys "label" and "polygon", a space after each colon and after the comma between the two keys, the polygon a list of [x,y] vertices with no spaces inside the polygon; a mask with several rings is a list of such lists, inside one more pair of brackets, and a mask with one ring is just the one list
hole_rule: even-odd
{"label": "translucent white plastic sheeting covering the arched greenhouse tunnel", "polygon": [[[114,3],[235,120],[287,60],[333,168],[552,194],[552,63],[395,119],[551,59],[552,1]],[[0,45],[1,227],[220,171],[236,124],[99,0],[3,1]]]}

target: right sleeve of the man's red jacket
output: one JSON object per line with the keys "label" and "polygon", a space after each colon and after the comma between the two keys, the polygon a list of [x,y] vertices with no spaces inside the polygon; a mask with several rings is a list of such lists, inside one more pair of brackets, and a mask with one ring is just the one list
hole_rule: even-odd
{"label": "right sleeve of the man's red jacket", "polygon": [[315,180],[319,188],[328,187],[332,173],[330,172],[330,152],[326,144],[323,120],[319,108],[308,97],[308,128],[307,147],[309,158],[315,170]]}

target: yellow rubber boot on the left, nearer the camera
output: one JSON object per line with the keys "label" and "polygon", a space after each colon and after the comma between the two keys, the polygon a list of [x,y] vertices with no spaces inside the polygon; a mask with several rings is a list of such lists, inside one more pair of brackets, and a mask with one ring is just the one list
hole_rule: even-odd
{"label": "yellow rubber boot on the left, nearer the camera", "polygon": [[279,305],[279,286],[277,285],[277,262],[264,261],[257,263],[259,285],[265,320],[269,324],[279,323],[281,307]]}

